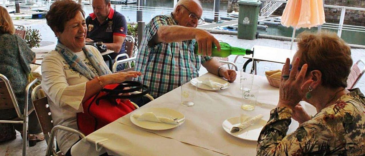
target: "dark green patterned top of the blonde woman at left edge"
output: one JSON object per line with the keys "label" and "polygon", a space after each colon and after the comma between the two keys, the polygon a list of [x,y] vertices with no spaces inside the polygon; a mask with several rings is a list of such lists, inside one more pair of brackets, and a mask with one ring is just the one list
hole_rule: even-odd
{"label": "dark green patterned top of the blonde woman at left edge", "polygon": [[35,58],[35,53],[18,35],[0,34],[0,58],[0,73],[9,79],[20,111],[23,112],[24,90],[28,84],[27,75],[31,71],[29,65]]}

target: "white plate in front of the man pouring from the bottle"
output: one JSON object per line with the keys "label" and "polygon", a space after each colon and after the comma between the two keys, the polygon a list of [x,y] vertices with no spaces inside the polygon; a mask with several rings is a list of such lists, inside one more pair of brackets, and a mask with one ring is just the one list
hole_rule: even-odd
{"label": "white plate in front of the man pouring from the bottle", "polygon": [[[206,79],[210,79],[212,82],[217,82],[217,83],[221,83],[221,84],[227,84],[225,87],[222,87],[220,89],[213,89],[212,87],[210,86],[207,86],[207,85],[204,85],[203,82],[204,80]],[[200,82],[200,83],[198,83]],[[200,89],[203,89],[203,90],[209,90],[209,91],[217,91],[217,90],[223,90],[223,89],[227,89],[228,87],[231,86],[231,84],[224,80],[224,79],[220,79],[220,78],[215,78],[215,77],[197,77],[197,78],[194,78],[190,81],[190,83]]]}

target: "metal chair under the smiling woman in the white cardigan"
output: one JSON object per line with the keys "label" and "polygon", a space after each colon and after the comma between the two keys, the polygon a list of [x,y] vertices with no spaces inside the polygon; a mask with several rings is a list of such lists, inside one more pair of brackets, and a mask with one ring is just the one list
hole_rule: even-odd
{"label": "metal chair under the smiling woman in the white cardigan", "polygon": [[42,97],[42,98],[37,99],[37,93],[39,90],[41,90],[41,85],[38,85],[37,87],[35,87],[33,89],[32,101],[33,101],[35,113],[37,113],[39,123],[41,124],[42,131],[46,138],[46,142],[47,142],[46,156],[62,155],[61,151],[56,152],[53,147],[55,132],[57,130],[65,130],[67,132],[75,133],[75,134],[78,134],[78,136],[80,136],[81,138],[84,138],[85,135],[82,134],[77,129],[72,129],[72,128],[69,128],[66,126],[62,126],[62,125],[53,126],[53,120],[52,120],[51,112],[49,109],[47,97]]}

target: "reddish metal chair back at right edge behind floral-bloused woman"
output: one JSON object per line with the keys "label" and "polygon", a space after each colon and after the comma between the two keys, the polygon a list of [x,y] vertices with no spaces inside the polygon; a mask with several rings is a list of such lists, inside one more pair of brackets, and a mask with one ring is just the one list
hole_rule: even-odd
{"label": "reddish metal chair back at right edge behind floral-bloused woman", "polygon": [[[364,67],[362,70],[359,68],[359,63],[362,63]],[[365,63],[362,59],[359,59],[352,67],[350,71],[350,75],[347,78],[347,89],[353,89],[356,83],[360,80],[362,75],[365,73]]]}

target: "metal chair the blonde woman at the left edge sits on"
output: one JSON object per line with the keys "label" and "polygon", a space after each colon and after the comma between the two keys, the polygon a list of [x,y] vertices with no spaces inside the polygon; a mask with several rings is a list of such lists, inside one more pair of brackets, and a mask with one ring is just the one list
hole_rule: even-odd
{"label": "metal chair the blonde woman at the left edge sits on", "polygon": [[0,102],[0,109],[14,108],[18,115],[18,117],[11,120],[0,120],[0,123],[23,124],[23,156],[25,156],[27,151],[28,115],[34,110],[34,108],[28,110],[28,95],[31,86],[40,82],[40,80],[36,78],[26,86],[24,113],[22,114],[8,78],[5,77],[5,75],[0,74],[0,79],[2,80],[0,81],[0,98],[2,100]]}

